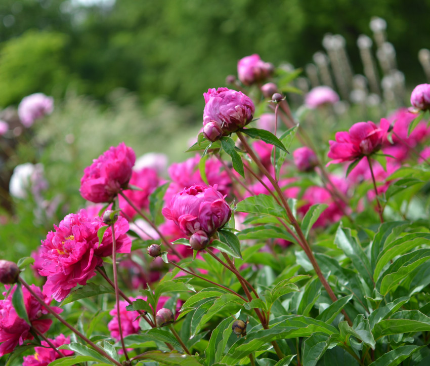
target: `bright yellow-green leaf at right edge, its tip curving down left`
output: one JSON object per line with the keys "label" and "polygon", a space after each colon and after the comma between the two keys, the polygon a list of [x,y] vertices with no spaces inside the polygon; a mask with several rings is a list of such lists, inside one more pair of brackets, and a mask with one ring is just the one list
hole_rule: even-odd
{"label": "bright yellow-green leaf at right edge, its tip curving down left", "polygon": [[430,249],[418,249],[396,259],[379,277],[376,288],[382,296],[397,287],[410,272],[430,259]]}

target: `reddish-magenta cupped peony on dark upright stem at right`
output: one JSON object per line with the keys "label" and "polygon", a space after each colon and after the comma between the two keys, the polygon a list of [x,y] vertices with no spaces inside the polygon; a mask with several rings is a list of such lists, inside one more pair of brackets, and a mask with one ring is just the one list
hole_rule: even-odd
{"label": "reddish-magenta cupped peony on dark upright stem at right", "polygon": [[382,118],[380,128],[368,121],[356,123],[349,132],[337,132],[336,141],[329,141],[328,157],[334,160],[327,165],[355,160],[378,151],[389,126],[389,121]]}

